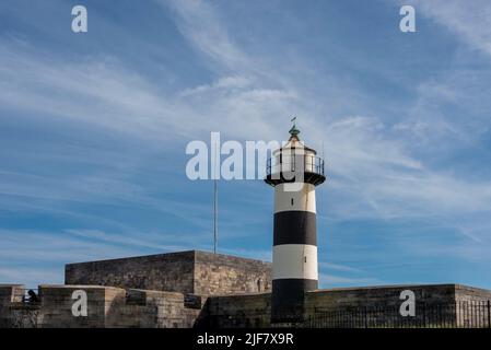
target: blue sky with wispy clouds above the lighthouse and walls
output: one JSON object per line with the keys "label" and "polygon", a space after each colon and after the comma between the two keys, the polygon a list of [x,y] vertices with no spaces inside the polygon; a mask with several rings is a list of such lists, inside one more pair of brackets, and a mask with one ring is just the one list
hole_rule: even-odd
{"label": "blue sky with wispy clouds above the lighthouse and walls", "polygon": [[[491,4],[2,1],[0,282],[66,262],[212,248],[186,144],[323,149],[320,287],[491,288]],[[84,4],[89,32],[71,32]],[[220,183],[221,253],[270,259],[272,189]]]}

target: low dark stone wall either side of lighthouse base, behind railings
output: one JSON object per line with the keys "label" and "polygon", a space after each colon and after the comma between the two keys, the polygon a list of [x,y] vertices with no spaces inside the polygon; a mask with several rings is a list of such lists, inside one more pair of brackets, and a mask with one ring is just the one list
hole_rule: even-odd
{"label": "low dark stone wall either side of lighthouse base, behind railings", "polygon": [[[400,316],[399,307],[404,302],[400,293],[405,290],[414,293],[414,318]],[[270,293],[210,296],[197,326],[270,327]],[[421,327],[489,327],[486,307],[479,312],[472,306],[459,308],[463,302],[488,301],[491,301],[491,291],[460,284],[318,290],[305,294],[305,323],[302,326],[398,327],[411,324]]]}

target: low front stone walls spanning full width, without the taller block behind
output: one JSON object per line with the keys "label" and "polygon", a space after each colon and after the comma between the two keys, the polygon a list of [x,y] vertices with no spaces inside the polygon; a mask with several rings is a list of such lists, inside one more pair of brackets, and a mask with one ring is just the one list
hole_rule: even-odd
{"label": "low front stone walls spanning full width, without the taller block behind", "polygon": [[[270,327],[270,298],[267,293],[209,296],[178,292],[120,289],[97,285],[40,285],[37,304],[23,303],[23,285],[0,285],[0,327]],[[87,294],[87,317],[71,313],[74,290]],[[417,315],[411,325],[439,327],[490,327],[490,314],[458,307],[437,314],[424,313],[422,305],[452,306],[491,301],[491,291],[459,284],[394,285],[318,290],[305,295],[305,323],[323,327],[326,314],[337,327],[397,327],[401,318],[400,292],[416,295]],[[379,308],[378,308],[379,307]],[[374,313],[375,311],[375,313]],[[355,323],[353,324],[353,319]],[[314,320],[314,323],[311,323]],[[273,325],[278,326],[278,325]],[[299,325],[295,325],[299,326]]]}

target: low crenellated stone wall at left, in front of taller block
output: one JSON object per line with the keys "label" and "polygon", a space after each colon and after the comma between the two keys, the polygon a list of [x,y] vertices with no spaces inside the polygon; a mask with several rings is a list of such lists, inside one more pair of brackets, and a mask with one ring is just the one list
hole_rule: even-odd
{"label": "low crenellated stone wall at left, in front of taller block", "polygon": [[[0,327],[189,328],[202,307],[182,293],[97,285],[39,285],[39,303],[23,303],[23,288],[0,285]],[[75,290],[86,292],[86,317],[72,314]]]}

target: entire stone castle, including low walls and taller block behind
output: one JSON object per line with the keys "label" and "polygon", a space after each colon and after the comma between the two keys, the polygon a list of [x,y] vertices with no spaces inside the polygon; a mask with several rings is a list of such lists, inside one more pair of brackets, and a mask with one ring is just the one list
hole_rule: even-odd
{"label": "entire stone castle, including low walls and taller block behind", "polygon": [[[38,303],[23,301],[23,285],[0,284],[0,327],[271,326],[271,264],[259,260],[190,250],[70,264],[66,283],[40,285]],[[74,290],[87,294],[87,317],[71,312]],[[416,318],[400,316],[405,290],[414,293]],[[317,290],[305,294],[303,319],[301,326],[334,319],[338,327],[394,327],[410,319],[491,327],[491,291],[460,284]]]}

